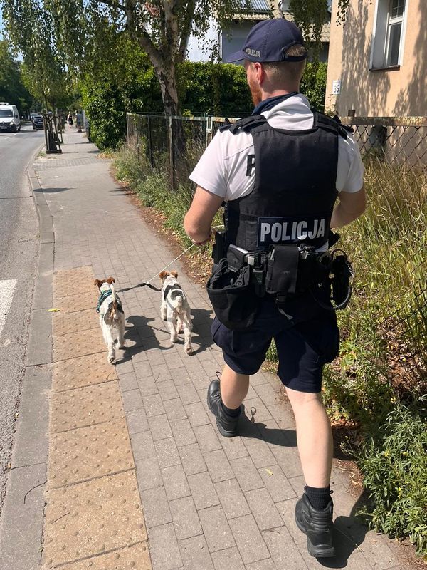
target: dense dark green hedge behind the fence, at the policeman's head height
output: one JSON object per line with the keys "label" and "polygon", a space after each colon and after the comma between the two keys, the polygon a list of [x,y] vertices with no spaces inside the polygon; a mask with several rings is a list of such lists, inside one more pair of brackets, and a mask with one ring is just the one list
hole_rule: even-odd
{"label": "dense dark green hedge behind the fence, at the policeman's head height", "polygon": [[[93,142],[101,150],[116,148],[126,135],[126,112],[161,113],[159,84],[147,56],[135,55],[132,66],[119,77],[88,76],[82,83],[83,107],[90,120]],[[326,63],[307,63],[301,91],[312,106],[323,110]],[[240,117],[251,113],[253,103],[243,66],[227,63],[194,63],[179,66],[177,88],[181,113]]]}

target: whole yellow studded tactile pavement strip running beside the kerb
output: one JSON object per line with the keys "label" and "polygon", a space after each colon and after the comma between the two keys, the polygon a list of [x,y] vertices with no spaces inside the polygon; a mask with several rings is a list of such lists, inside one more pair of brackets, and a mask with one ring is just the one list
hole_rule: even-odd
{"label": "whole yellow studded tactile pavement strip running beside the kerb", "polygon": [[[152,568],[114,366],[90,267],[54,277],[53,382],[43,569]],[[73,295],[68,295],[73,291]]]}

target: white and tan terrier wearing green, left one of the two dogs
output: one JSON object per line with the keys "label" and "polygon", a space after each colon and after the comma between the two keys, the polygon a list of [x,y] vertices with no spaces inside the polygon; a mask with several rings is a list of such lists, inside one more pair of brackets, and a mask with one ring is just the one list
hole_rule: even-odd
{"label": "white and tan terrier wearing green, left one of the two dogs", "polygon": [[95,279],[94,284],[100,291],[97,304],[97,313],[100,314],[100,326],[105,344],[108,347],[108,362],[115,361],[114,330],[117,331],[117,346],[125,348],[125,313],[122,303],[115,293],[114,277],[108,279]]}

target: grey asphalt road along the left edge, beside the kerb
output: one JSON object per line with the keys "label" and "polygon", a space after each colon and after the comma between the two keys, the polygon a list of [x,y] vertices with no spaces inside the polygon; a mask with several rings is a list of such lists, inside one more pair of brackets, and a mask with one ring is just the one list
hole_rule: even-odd
{"label": "grey asphalt road along the left edge, beside the kerb", "polygon": [[26,167],[44,141],[25,126],[0,132],[0,512],[19,413],[38,257],[38,221]]}

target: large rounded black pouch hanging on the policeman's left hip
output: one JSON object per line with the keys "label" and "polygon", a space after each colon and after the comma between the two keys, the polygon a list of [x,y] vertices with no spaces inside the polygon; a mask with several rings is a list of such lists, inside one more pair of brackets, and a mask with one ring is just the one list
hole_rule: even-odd
{"label": "large rounded black pouch hanging on the policeman's left hip", "polygon": [[251,283],[251,267],[231,271],[226,259],[206,283],[206,291],[218,321],[232,330],[247,328],[255,321],[259,299]]}

